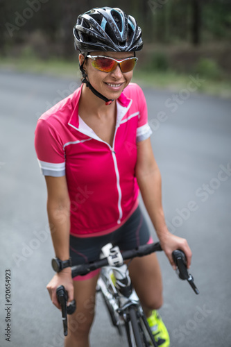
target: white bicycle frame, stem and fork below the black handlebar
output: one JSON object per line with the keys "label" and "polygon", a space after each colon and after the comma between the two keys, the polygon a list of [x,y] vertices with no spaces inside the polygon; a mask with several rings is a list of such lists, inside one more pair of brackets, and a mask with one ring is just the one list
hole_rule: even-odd
{"label": "white bicycle frame, stem and fork below the black handlebar", "polygon": [[[122,326],[125,324],[127,335],[129,335],[129,346],[137,346],[129,316],[129,307],[135,307],[137,315],[140,317],[140,328],[142,328],[141,333],[145,335],[146,341],[148,341],[148,346],[157,346],[155,342],[152,341],[153,339],[151,337],[153,336],[151,330],[147,328],[148,323],[146,322],[135,289],[131,285],[128,266],[123,263],[123,259],[120,257],[119,248],[112,248],[112,245],[109,244],[105,246],[105,249],[102,250],[103,255],[108,257],[110,265],[102,267],[97,287],[98,291],[101,291],[108,307],[112,324],[118,328],[120,335],[122,334]],[[113,264],[117,264],[117,266],[114,266]]]}

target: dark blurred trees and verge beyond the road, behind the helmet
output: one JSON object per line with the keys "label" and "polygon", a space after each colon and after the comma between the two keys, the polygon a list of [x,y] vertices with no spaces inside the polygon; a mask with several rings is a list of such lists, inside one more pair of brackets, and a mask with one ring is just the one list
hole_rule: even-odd
{"label": "dark blurred trees and verge beyond the road, behind the helmet", "polygon": [[231,0],[0,0],[1,55],[73,58],[76,18],[97,6],[119,7],[135,17],[144,56],[148,52],[151,60],[155,54],[160,69],[173,63],[184,70],[185,58],[190,65],[199,55],[231,71]]}

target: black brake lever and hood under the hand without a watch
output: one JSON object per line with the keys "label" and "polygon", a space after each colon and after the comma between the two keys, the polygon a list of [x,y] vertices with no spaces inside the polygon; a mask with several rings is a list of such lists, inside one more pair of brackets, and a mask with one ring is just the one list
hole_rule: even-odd
{"label": "black brake lever and hood under the hand without a watch", "polygon": [[199,294],[200,291],[198,291],[198,288],[196,287],[194,283],[194,278],[191,276],[191,273],[187,270],[187,263],[185,258],[185,253],[177,249],[176,251],[173,251],[173,261],[175,262],[177,266],[177,274],[178,277],[181,280],[187,280],[189,282],[189,285],[191,285],[191,288],[195,291],[196,294]]}

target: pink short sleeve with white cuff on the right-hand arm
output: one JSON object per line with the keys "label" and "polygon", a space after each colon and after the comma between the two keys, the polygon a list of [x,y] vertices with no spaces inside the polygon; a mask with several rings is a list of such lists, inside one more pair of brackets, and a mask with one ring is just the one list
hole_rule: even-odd
{"label": "pink short sleeve with white cuff on the right-hand arm", "polygon": [[137,125],[137,142],[148,139],[153,133],[149,124],[148,124],[148,108],[146,104],[146,99],[144,92],[141,87],[137,85],[137,101],[139,107],[139,119]]}

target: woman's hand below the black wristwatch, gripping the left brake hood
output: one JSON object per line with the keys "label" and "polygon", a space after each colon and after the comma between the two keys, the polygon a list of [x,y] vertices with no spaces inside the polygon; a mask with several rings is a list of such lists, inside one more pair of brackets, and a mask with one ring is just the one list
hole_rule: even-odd
{"label": "woman's hand below the black wristwatch, gripping the left brake hood", "polygon": [[50,280],[49,284],[46,286],[46,289],[49,291],[52,303],[61,309],[60,303],[56,296],[56,289],[58,286],[63,285],[68,294],[67,303],[71,303],[74,300],[74,285],[71,278],[71,268],[63,269],[62,271],[55,273],[55,276]]}

